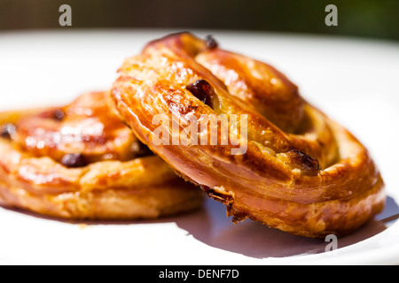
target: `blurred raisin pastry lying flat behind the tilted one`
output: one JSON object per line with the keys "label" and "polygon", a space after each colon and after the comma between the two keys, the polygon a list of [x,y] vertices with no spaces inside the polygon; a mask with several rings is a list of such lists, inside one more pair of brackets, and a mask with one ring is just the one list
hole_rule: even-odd
{"label": "blurred raisin pastry lying flat behind the tilted one", "polygon": [[199,208],[185,182],[114,113],[109,92],[0,114],[0,204],[66,219],[159,218]]}

